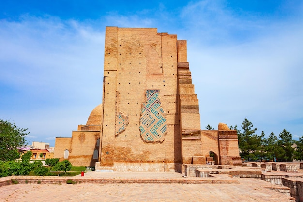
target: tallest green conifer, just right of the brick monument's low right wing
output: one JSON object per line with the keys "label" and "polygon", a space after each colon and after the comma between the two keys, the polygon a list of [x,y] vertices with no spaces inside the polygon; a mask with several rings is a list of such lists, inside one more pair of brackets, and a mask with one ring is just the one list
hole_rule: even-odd
{"label": "tallest green conifer, just right of the brick monument's low right wing", "polygon": [[260,159],[264,133],[260,136],[255,134],[257,128],[254,128],[252,122],[247,118],[244,119],[241,127],[243,132],[237,130],[240,156],[249,161]]}

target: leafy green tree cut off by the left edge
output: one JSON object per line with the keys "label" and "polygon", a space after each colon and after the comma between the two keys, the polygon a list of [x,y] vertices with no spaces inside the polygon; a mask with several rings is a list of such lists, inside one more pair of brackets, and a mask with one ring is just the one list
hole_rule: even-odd
{"label": "leafy green tree cut off by the left edge", "polygon": [[0,119],[0,160],[19,158],[18,148],[25,144],[27,129],[18,128],[15,123]]}

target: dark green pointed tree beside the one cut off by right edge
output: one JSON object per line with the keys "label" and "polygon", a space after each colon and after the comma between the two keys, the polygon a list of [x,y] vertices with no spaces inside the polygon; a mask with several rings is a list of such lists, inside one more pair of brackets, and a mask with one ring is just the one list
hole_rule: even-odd
{"label": "dark green pointed tree beside the one cut off by right edge", "polygon": [[292,135],[285,129],[279,134],[280,140],[278,140],[278,146],[280,146],[284,152],[281,160],[284,160],[285,162],[292,162],[293,160],[293,153],[294,148],[292,147],[294,141],[292,140]]}

